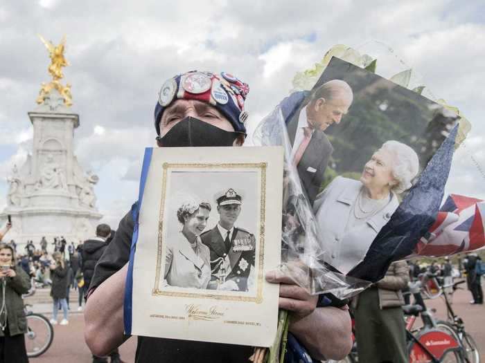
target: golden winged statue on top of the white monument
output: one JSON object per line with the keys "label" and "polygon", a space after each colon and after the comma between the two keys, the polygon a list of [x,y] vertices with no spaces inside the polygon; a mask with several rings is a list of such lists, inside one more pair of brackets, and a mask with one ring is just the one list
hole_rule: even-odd
{"label": "golden winged statue on top of the white monument", "polygon": [[55,46],[52,41],[46,41],[42,35],[39,35],[40,40],[46,46],[49,57],[51,58],[51,64],[48,66],[48,73],[52,75],[52,81],[48,84],[42,83],[42,88],[39,91],[39,97],[37,97],[37,103],[42,104],[46,96],[52,91],[57,89],[64,98],[64,105],[72,105],[71,85],[66,84],[62,86],[60,80],[64,75],[62,74],[62,67],[69,66],[66,58],[64,58],[64,49],[66,45],[66,36],[62,37],[62,40],[58,46]]}

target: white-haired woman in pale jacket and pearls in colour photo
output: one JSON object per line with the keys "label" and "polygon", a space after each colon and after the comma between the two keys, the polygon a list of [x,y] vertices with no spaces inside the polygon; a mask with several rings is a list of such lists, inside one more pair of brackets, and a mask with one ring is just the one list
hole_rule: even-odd
{"label": "white-haired woman in pale jacket and pearls in colour photo", "polygon": [[347,273],[362,261],[418,169],[416,152],[389,140],[373,153],[359,180],[337,176],[317,196],[315,216],[333,267]]}

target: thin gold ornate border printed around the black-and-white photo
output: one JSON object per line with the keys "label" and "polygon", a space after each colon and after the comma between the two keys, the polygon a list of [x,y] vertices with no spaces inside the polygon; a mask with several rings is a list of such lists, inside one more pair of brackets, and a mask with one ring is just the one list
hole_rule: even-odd
{"label": "thin gold ornate border printed around the black-and-white photo", "polygon": [[[264,266],[264,251],[265,251],[265,205],[266,205],[266,162],[258,163],[170,163],[164,162],[162,165],[164,171],[161,182],[161,203],[159,212],[159,225],[158,225],[158,249],[157,249],[157,266],[155,274],[155,287],[152,290],[152,295],[159,296],[173,296],[173,297],[197,297],[205,299],[219,299],[219,300],[232,300],[232,301],[250,301],[256,302],[256,304],[261,304],[263,302],[263,266]],[[261,186],[261,196],[260,196],[260,227],[259,227],[259,252],[258,252],[258,276],[256,278],[256,296],[238,296],[238,295],[223,295],[223,294],[211,294],[207,291],[211,290],[200,290],[200,292],[180,292],[180,291],[167,291],[160,288],[160,275],[162,266],[162,251],[164,247],[163,232],[164,232],[164,209],[167,194],[167,176],[169,169],[259,169],[261,174],[260,186]],[[179,170],[177,170],[179,171]]]}

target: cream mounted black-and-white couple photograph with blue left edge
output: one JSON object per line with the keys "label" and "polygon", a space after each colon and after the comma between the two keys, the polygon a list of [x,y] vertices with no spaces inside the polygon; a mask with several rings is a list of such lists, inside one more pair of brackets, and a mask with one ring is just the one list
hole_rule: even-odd
{"label": "cream mounted black-and-white couple photograph with blue left edge", "polygon": [[265,272],[281,258],[282,176],[281,147],[147,149],[125,331],[270,346],[279,286]]}

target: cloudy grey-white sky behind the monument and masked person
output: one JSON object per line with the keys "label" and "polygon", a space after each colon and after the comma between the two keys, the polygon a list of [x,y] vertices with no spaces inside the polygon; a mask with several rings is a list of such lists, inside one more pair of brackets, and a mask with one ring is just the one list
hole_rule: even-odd
{"label": "cloudy grey-white sky behind the monument and masked person", "polygon": [[168,77],[235,74],[251,87],[254,129],[292,89],[294,74],[334,44],[364,52],[387,44],[436,98],[461,109],[473,130],[455,154],[448,192],[485,198],[484,19],[480,0],[2,1],[0,209],[6,176],[32,147],[27,112],[50,79],[37,34],[55,44],[67,35],[64,82],[80,115],[75,152],[100,177],[98,209],[113,226],[136,199],[143,148],[155,140],[157,91]]}

